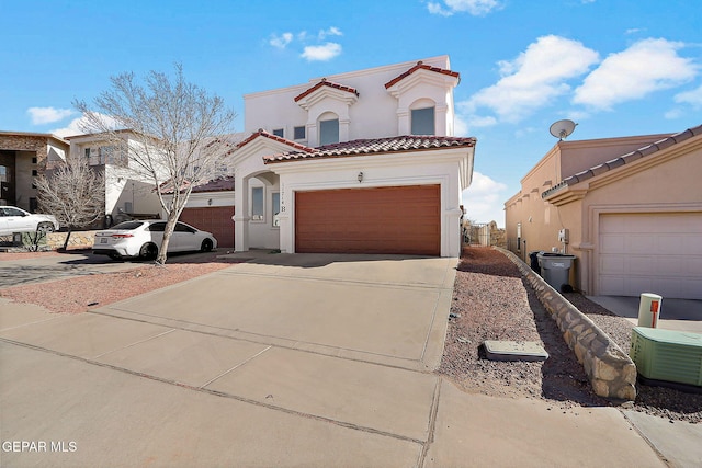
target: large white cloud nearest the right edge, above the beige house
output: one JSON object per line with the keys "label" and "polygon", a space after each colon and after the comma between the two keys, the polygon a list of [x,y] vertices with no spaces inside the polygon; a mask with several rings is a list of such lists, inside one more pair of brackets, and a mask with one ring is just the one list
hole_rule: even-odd
{"label": "large white cloud nearest the right edge, above the beige house", "polygon": [[609,110],[614,104],[641,99],[693,79],[699,67],[692,59],[678,56],[677,50],[683,45],[648,38],[609,55],[575,90],[573,102]]}

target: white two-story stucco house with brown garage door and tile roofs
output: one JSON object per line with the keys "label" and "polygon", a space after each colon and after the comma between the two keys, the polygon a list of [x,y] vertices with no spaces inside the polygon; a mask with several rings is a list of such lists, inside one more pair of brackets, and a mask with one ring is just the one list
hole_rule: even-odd
{"label": "white two-story stucco house with brown garage door and tile roofs", "polygon": [[[245,95],[236,250],[460,255],[476,140],[452,136],[458,81],[440,56]],[[184,214],[229,216],[210,194]]]}

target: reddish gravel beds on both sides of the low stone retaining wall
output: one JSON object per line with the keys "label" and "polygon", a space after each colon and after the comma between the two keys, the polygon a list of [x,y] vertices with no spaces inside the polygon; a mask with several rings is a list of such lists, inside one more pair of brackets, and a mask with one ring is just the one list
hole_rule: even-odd
{"label": "reddish gravel beds on both sides of the low stone retaining wall", "polygon": [[[629,353],[633,326],[626,319],[570,293],[565,297]],[[452,317],[439,372],[468,392],[507,398],[540,398],[559,408],[615,406],[595,395],[582,366],[563,340],[555,321],[517,266],[490,248],[467,248],[458,264]],[[486,340],[536,341],[545,362],[485,358]],[[637,397],[623,407],[668,418],[702,422],[702,395],[637,385]]]}

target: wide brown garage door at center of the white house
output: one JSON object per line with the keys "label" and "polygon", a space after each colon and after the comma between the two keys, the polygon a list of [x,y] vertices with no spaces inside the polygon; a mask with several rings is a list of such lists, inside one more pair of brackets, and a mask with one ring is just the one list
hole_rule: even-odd
{"label": "wide brown garage door at center of the white house", "polygon": [[295,193],[295,251],[441,254],[439,185]]}

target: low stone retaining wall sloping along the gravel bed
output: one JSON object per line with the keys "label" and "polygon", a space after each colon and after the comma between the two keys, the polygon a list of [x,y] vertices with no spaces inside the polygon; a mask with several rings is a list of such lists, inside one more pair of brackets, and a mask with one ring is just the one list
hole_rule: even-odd
{"label": "low stone retaining wall sloping along the gravel bed", "polygon": [[508,250],[497,250],[519,267],[536,292],[539,300],[563,332],[563,339],[585,367],[595,392],[600,397],[634,400],[636,365],[629,355],[521,259]]}

